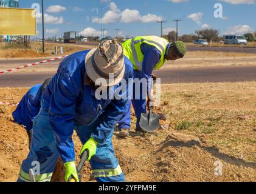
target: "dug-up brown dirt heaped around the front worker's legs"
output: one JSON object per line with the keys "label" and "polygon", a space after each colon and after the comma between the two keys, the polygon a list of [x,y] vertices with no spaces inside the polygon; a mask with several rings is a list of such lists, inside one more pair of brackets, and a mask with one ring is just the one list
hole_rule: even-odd
{"label": "dug-up brown dirt heaped around the front worker's legs", "polygon": [[[0,90],[0,99],[12,93],[15,102],[27,89]],[[162,109],[167,109],[164,103]],[[16,181],[21,162],[29,152],[26,131],[13,123],[10,114],[15,107],[0,105],[0,181]],[[170,107],[169,107],[170,109]],[[134,129],[134,113],[132,113]],[[256,181],[256,163],[223,153],[207,144],[207,139],[177,132],[173,122],[161,121],[164,125],[156,133],[135,133],[120,139],[114,132],[113,146],[126,181]],[[74,134],[76,161],[81,143]],[[222,171],[221,171],[222,169]],[[222,172],[222,173],[221,173]],[[82,181],[94,181],[91,167],[86,162],[81,172]],[[219,173],[219,174],[218,174]],[[221,173],[221,174],[220,174]],[[63,181],[61,163],[52,181]]]}

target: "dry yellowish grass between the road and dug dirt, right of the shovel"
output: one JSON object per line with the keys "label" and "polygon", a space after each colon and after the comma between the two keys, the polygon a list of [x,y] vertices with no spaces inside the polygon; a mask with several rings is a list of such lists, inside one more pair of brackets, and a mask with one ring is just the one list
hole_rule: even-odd
{"label": "dry yellowish grass between the road and dug dirt, right of the shovel", "polygon": [[162,85],[158,110],[168,115],[173,130],[255,162],[255,90],[256,82]]}

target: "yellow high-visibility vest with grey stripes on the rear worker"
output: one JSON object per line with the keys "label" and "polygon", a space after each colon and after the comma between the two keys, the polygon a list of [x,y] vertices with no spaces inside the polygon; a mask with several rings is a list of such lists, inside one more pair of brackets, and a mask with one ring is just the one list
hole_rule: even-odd
{"label": "yellow high-visibility vest with grey stripes on the rear worker", "polygon": [[157,50],[159,50],[159,52],[161,52],[161,59],[159,63],[156,64],[154,70],[161,68],[166,61],[165,52],[167,45],[169,44],[169,41],[167,41],[165,38],[158,36],[137,36],[133,39],[128,39],[127,41],[123,42],[123,55],[130,59],[135,70],[141,71],[144,55],[140,49],[140,46],[143,43],[153,45]]}

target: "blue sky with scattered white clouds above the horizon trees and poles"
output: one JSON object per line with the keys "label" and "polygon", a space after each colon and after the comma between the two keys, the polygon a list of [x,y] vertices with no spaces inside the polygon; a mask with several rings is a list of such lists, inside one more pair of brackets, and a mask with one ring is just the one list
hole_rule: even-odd
{"label": "blue sky with scattered white clouds above the horizon trees and poles", "polygon": [[[31,7],[41,1],[20,0],[20,7]],[[223,5],[223,18],[215,18],[216,3]],[[100,35],[101,7],[105,36],[161,35],[175,29],[173,19],[182,19],[179,33],[189,34],[202,28],[215,28],[223,33],[243,34],[256,30],[255,0],[44,0],[46,36],[60,36],[66,31],[83,35]],[[52,7],[51,7],[52,6]],[[81,25],[82,24],[82,25]],[[41,24],[38,19],[38,32]]]}

